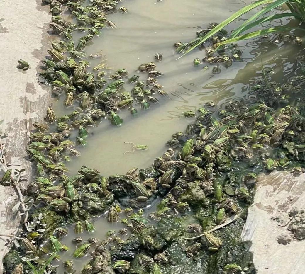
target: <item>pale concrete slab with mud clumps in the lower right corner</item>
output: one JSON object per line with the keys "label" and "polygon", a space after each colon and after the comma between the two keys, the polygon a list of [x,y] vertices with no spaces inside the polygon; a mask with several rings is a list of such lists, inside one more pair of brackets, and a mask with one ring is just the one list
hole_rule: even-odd
{"label": "pale concrete slab with mud clumps in the lower right corner", "polygon": [[276,171],[260,176],[242,235],[252,241],[250,250],[259,274],[304,273],[305,240],[279,244],[277,237],[288,232],[288,222],[271,219],[293,207],[305,208],[304,182],[304,173],[294,177],[290,172]]}

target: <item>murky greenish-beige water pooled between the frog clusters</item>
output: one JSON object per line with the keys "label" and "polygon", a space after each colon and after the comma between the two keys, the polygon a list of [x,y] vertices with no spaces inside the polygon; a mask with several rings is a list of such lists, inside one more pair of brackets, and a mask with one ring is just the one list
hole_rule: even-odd
{"label": "murky greenish-beige water pooled between the frog clusters", "polygon": [[[278,79],[293,73],[295,53],[300,50],[300,46],[288,43],[271,44],[260,40],[242,42],[243,62],[235,62],[228,68],[221,66],[220,74],[212,73],[214,65],[209,65],[207,71],[202,69],[206,64],[193,66],[193,59],[205,57],[203,51],[194,50],[176,60],[179,55],[173,47],[175,42],[194,39],[198,29],[206,28],[210,22],[224,20],[247,3],[249,1],[236,0],[122,2],[129,12],[110,15],[108,19],[114,21],[117,28],[102,30],[101,36],[95,37],[86,47],[86,53],[89,55],[102,51],[102,59],[107,59],[106,63],[114,68],[113,71],[126,68],[129,76],[136,73],[140,64],[154,61],[155,52],[162,53],[163,60],[156,62],[156,69],[164,73],[158,80],[169,96],[160,98],[160,103],[152,104],[147,111],[138,107],[137,116],[131,116],[128,110],[123,110],[120,116],[124,123],[120,127],[102,121],[98,127],[89,128],[88,144],[78,148],[81,157],[73,158],[67,164],[70,174],[75,174],[84,164],[99,169],[103,176],[124,174],[133,166],[148,167],[154,158],[164,153],[171,134],[184,130],[192,121],[192,118],[181,117],[183,111],[196,111],[207,101],[214,101],[216,107],[213,110],[216,110],[233,98],[245,97],[249,79],[261,70],[261,60],[264,65],[276,70]],[[273,25],[279,23],[295,24],[282,21],[273,22]],[[79,37],[82,35],[79,33]],[[100,60],[90,59],[91,67]],[[140,80],[146,80],[146,77],[147,73],[142,73]],[[130,91],[131,85],[126,85],[125,89]],[[58,115],[67,113],[63,100],[62,97],[53,105]],[[125,151],[131,149],[124,141],[145,144],[149,150],[124,155]],[[96,233],[93,236],[98,239],[104,239],[109,229],[121,228],[120,224],[109,225],[105,217],[95,220],[94,225]],[[92,236],[83,234],[84,240]],[[71,251],[62,254],[62,258],[72,258],[75,246],[71,244],[71,239],[74,237],[73,229],[69,228],[69,235],[63,239],[63,244],[70,246]],[[75,260],[76,273],[80,272],[86,260],[87,256]],[[63,273],[63,269],[60,268],[59,273]]]}

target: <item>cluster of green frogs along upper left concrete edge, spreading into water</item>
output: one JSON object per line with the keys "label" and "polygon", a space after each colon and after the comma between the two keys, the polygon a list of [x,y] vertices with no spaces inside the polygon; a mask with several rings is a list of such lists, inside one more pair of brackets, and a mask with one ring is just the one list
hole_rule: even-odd
{"label": "cluster of green frogs along upper left concrete edge, spreading into water", "polygon": [[[123,123],[123,119],[117,115],[120,109],[129,108],[131,114],[135,115],[137,105],[142,109],[149,109],[150,104],[159,100],[155,94],[165,95],[166,92],[158,83],[157,77],[163,75],[156,70],[154,62],[144,63],[138,67],[137,72],[147,72],[146,81],[138,81],[140,75],[135,74],[128,77],[126,69],[113,71],[106,64],[106,59],[93,68],[90,68],[88,58],[102,58],[102,54],[91,54],[87,56],[84,48],[94,36],[100,35],[100,30],[106,26],[115,28],[112,21],[106,19],[107,15],[113,13],[118,1],[95,1],[91,5],[83,5],[81,1],[49,1],[52,12],[52,23],[49,26],[53,34],[61,36],[62,40],[53,41],[52,48],[47,52],[50,56],[42,60],[45,71],[40,73],[43,82],[51,83],[53,92],[56,95],[66,94],[64,105],[73,107],[76,101],[79,102],[77,110],[82,112],[81,125],[92,124],[92,119],[108,116],[114,125]],[[66,21],[61,17],[61,11],[66,9],[74,17],[74,21]],[[119,7],[120,11],[127,12],[125,7]],[[85,32],[77,45],[74,44],[73,32]],[[162,54],[156,53],[157,62],[162,60]],[[18,61],[23,69],[29,65],[23,60]],[[103,70],[105,69],[105,70]],[[113,73],[110,74],[110,71]],[[106,79],[108,78],[108,79]],[[120,92],[125,82],[134,84],[131,92]],[[59,121],[61,127],[71,128],[66,123],[68,119]],[[73,125],[72,125],[73,127]]]}

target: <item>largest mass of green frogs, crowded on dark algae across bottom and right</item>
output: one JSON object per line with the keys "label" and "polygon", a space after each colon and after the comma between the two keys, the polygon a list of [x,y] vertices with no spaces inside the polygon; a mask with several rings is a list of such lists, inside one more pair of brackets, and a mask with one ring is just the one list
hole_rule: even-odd
{"label": "largest mass of green frogs, crowded on dark algae across bottom and right", "polygon": [[[75,233],[93,232],[92,217],[106,213],[109,222],[126,227],[110,231],[101,241],[94,237],[73,240],[75,258],[91,251],[83,274],[172,273],[182,262],[192,269],[204,258],[214,258],[216,265],[210,267],[217,267],[220,273],[255,273],[251,259],[244,258],[249,253],[237,232],[252,202],[257,174],[287,168],[298,174],[303,172],[300,163],[305,160],[301,96],[305,77],[294,76],[279,85],[271,81],[271,69],[262,74],[250,87],[247,99],[230,101],[217,112],[212,111],[213,104],[198,109],[194,123],[185,132],[173,133],[167,142],[170,148],[151,167],[132,168],[125,175],[106,178],[98,170],[82,166],[76,175],[67,176],[62,161],[69,159],[68,154],[78,155],[77,144],[58,128],[50,132],[48,124],[34,123],[37,132],[31,134],[27,152],[37,171],[27,193],[37,208],[30,218],[42,214],[46,228],[44,233],[24,232],[20,251],[39,265],[38,258],[44,254],[67,249],[60,243],[60,237],[68,233],[66,222],[74,223]],[[294,95],[294,105],[289,94]],[[54,123],[54,117],[48,109],[46,120]],[[87,136],[86,128],[79,124],[78,138],[85,142]],[[5,175],[2,182],[9,177]],[[157,198],[161,200],[155,211],[144,215],[143,208]],[[240,217],[222,227],[235,216]],[[211,233],[217,226],[219,230]],[[228,238],[230,231],[235,231],[235,241]],[[128,233],[126,240],[120,237]],[[46,238],[45,248],[38,250]],[[227,259],[221,259],[223,256]],[[73,272],[72,261],[63,263]],[[15,265],[7,273],[22,273],[12,272]],[[208,266],[201,269],[209,271]],[[51,266],[50,270],[56,271]]]}

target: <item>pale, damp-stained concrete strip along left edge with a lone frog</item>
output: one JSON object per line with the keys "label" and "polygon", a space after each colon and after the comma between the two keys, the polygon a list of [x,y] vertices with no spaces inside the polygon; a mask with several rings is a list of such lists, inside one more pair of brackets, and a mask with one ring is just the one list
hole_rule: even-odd
{"label": "pale, damp-stained concrete strip along left edge with a lone frog", "polygon": [[[32,123],[41,121],[50,102],[50,92],[38,84],[36,76],[39,61],[44,58],[50,44],[47,34],[50,20],[49,6],[41,5],[41,1],[23,0],[17,4],[9,0],[0,1],[0,120],[3,119],[0,128],[2,133],[8,134],[5,150],[6,162],[12,164],[10,168],[22,166],[29,170],[24,148]],[[18,59],[29,62],[30,69],[18,69]],[[20,220],[11,213],[15,201],[13,187],[0,185],[2,234],[14,234],[18,228]],[[6,252],[4,244],[5,241],[0,240],[0,262]],[[0,274],[2,272],[1,264]]]}

